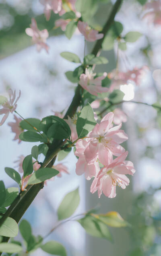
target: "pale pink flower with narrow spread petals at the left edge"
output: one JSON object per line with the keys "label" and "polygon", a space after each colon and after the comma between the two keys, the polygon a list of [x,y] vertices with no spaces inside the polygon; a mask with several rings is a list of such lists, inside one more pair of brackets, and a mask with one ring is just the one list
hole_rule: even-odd
{"label": "pale pink flower with narrow spread petals at the left edge", "polygon": [[3,108],[0,109],[0,115],[4,114],[4,116],[3,116],[3,118],[0,122],[0,126],[2,124],[4,124],[4,122],[8,118],[8,115],[10,113],[13,113],[14,110],[16,110],[17,101],[19,100],[19,98],[21,96],[21,91],[19,92],[19,97],[17,97],[17,99],[16,99],[16,91],[15,90],[14,90],[14,93],[13,93],[12,89],[9,89],[8,94],[9,94],[9,99],[4,102],[4,104],[2,105]]}

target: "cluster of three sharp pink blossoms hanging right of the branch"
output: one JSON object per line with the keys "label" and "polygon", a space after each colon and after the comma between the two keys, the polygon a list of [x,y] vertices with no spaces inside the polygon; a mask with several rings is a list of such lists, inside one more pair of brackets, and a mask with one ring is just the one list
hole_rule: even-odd
{"label": "cluster of three sharp pink blossoms hanging right of the branch", "polygon": [[[91,192],[98,190],[99,197],[102,192],[109,198],[115,197],[117,185],[124,189],[129,184],[125,174],[133,175],[135,172],[132,162],[125,161],[128,152],[120,145],[128,136],[124,130],[120,130],[122,124],[110,128],[113,119],[114,113],[108,113],[89,132],[87,138],[76,142],[75,155],[79,157],[76,174],[85,173],[87,180],[95,177]],[[113,156],[116,156],[114,160]],[[103,165],[101,170],[99,163]]]}

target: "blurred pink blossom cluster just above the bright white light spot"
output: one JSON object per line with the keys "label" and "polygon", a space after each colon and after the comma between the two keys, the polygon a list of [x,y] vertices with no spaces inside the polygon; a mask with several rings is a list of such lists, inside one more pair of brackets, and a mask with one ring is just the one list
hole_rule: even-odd
{"label": "blurred pink blossom cluster just above the bright white light spot", "polygon": [[126,72],[119,72],[118,70],[113,70],[108,73],[109,79],[111,79],[111,86],[109,91],[112,92],[114,89],[118,89],[120,85],[128,85],[130,82],[134,82],[139,85],[141,79],[149,68],[147,66],[142,66],[141,68],[135,67],[133,70],[128,70]]}

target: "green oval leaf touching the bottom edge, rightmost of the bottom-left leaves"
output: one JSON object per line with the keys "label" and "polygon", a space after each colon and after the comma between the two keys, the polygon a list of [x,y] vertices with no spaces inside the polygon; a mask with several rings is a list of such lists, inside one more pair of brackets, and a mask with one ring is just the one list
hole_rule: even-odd
{"label": "green oval leaf touching the bottom edge, rightmost of the bottom-left leaves", "polygon": [[59,256],[66,256],[66,250],[62,244],[55,242],[55,241],[50,241],[47,242],[46,244],[43,244],[41,246],[41,249],[44,252],[47,252],[52,255],[59,255]]}

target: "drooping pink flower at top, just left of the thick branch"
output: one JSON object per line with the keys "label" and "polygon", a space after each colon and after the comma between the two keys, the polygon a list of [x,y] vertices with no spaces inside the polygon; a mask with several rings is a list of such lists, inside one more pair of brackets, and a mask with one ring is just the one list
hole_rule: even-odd
{"label": "drooping pink flower at top, just left of the thick branch", "polygon": [[78,21],[78,29],[84,35],[85,40],[89,42],[94,42],[103,37],[102,33],[98,33],[99,31],[91,29],[87,22],[85,23],[83,21]]}

